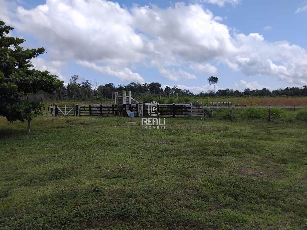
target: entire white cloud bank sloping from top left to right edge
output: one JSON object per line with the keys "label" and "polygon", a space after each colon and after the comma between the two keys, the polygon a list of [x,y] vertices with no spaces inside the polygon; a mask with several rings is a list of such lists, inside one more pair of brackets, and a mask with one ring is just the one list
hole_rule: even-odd
{"label": "entire white cloud bank sloping from top left to right edge", "polygon": [[[206,0],[223,6],[239,0]],[[0,0],[0,18],[48,46],[49,57],[74,60],[121,81],[144,81],[135,66],[155,67],[167,79],[187,81],[215,74],[208,64],[224,63],[247,76],[275,76],[288,84],[307,84],[307,53],[287,41],[267,42],[258,33],[230,34],[220,19],[199,4],[176,3],[122,8],[105,0],[47,0],[26,10]],[[177,69],[175,71],[174,69]],[[146,80],[146,79],[145,79]]]}

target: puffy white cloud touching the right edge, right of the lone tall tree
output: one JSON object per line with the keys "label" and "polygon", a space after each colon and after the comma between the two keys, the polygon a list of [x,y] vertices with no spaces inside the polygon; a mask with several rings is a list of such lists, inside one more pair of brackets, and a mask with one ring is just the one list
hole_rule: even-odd
{"label": "puffy white cloud touching the right edge, right of the lone tall tree", "polygon": [[237,47],[231,56],[222,59],[229,67],[241,70],[247,76],[276,76],[291,84],[307,83],[307,53],[304,48],[286,41],[269,43],[262,35],[236,34]]}

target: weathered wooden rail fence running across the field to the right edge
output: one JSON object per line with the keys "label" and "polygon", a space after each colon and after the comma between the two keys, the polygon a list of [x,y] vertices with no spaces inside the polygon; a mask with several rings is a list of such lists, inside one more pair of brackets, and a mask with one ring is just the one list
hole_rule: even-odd
{"label": "weathered wooden rail fence running across the field to the right edge", "polygon": [[[213,119],[215,109],[231,109],[231,121],[234,120],[234,109],[268,109],[268,121],[271,121],[271,109],[307,109],[304,106],[246,106],[236,105],[229,106],[230,103],[218,103],[211,106],[192,105],[192,103],[182,104],[160,104],[160,117],[200,117],[203,119],[205,116]],[[211,110],[211,111],[210,111]],[[130,115],[134,112],[138,117],[149,117],[148,103],[145,104],[130,104],[119,105],[116,104],[89,104],[89,105],[50,105],[51,116],[124,116]]]}

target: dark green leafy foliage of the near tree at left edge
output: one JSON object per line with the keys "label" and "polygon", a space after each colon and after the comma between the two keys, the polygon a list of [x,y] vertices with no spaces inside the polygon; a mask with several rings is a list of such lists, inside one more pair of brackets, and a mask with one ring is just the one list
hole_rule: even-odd
{"label": "dark green leafy foliage of the near tree at left edge", "polygon": [[0,21],[0,115],[8,121],[24,121],[41,114],[44,107],[40,102],[28,101],[27,96],[39,91],[52,93],[63,82],[48,71],[32,69],[30,60],[45,53],[45,49],[24,50],[24,39],[7,36],[13,29]]}

